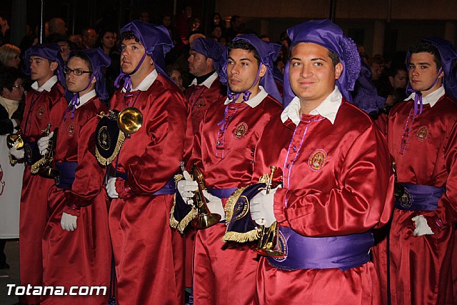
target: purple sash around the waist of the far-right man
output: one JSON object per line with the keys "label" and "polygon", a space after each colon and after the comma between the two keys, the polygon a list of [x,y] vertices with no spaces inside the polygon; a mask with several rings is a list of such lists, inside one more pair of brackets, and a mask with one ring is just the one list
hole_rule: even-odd
{"label": "purple sash around the waist of the far-right man", "polygon": [[408,183],[401,185],[405,188],[405,193],[395,199],[395,208],[405,211],[434,211],[446,191],[446,187]]}

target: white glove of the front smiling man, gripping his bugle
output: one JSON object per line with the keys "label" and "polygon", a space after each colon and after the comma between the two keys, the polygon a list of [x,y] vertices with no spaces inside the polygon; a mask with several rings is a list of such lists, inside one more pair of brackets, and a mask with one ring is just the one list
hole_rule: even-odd
{"label": "white glove of the front smiling man, gripping his bugle", "polygon": [[276,217],[274,216],[274,194],[276,189],[272,189],[270,193],[266,194],[266,191],[261,191],[249,202],[251,217],[256,224],[260,226],[271,226]]}

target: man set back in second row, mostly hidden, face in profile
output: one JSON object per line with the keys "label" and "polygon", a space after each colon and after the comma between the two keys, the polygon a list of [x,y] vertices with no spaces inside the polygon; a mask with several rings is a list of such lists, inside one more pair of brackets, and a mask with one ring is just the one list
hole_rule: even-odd
{"label": "man set back in second row, mostly hidden, face in profile", "polygon": [[[198,38],[189,51],[189,72],[195,76],[186,90],[192,109],[192,127],[199,130],[201,119],[209,106],[226,95],[227,87],[221,84],[224,46],[214,39]],[[221,74],[221,75],[219,75]]]}

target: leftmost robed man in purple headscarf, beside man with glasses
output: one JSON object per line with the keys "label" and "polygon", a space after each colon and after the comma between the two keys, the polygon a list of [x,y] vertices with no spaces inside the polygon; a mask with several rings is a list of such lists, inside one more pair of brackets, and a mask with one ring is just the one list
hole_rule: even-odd
{"label": "leftmost robed man in purple headscarf, beside man with glasses", "polygon": [[[51,124],[51,130],[59,126],[62,114],[68,106],[65,89],[59,83],[56,71],[63,61],[57,44],[37,44],[26,51],[26,72],[35,81],[26,95],[24,120],[21,130],[24,149],[10,150],[16,159],[24,159],[26,168],[22,182],[21,216],[19,219],[19,249],[21,286],[43,286],[43,262],[41,236],[47,219],[47,194],[54,180],[31,174],[31,166],[41,158],[36,141],[42,131]],[[61,76],[61,75],[60,75]],[[39,296],[21,296],[22,304],[38,304]]]}

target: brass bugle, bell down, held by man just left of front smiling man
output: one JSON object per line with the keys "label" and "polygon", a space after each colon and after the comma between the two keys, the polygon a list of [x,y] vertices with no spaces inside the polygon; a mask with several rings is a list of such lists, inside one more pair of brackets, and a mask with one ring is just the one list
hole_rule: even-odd
{"label": "brass bugle, bell down, held by man just left of front smiling man", "polygon": [[206,199],[203,193],[204,189],[206,189],[206,185],[200,169],[194,164],[191,171],[192,176],[194,176],[194,180],[199,187],[193,198],[197,209],[197,216],[192,220],[191,225],[194,226],[195,229],[206,229],[217,224],[221,220],[221,215],[211,213],[206,205]]}

